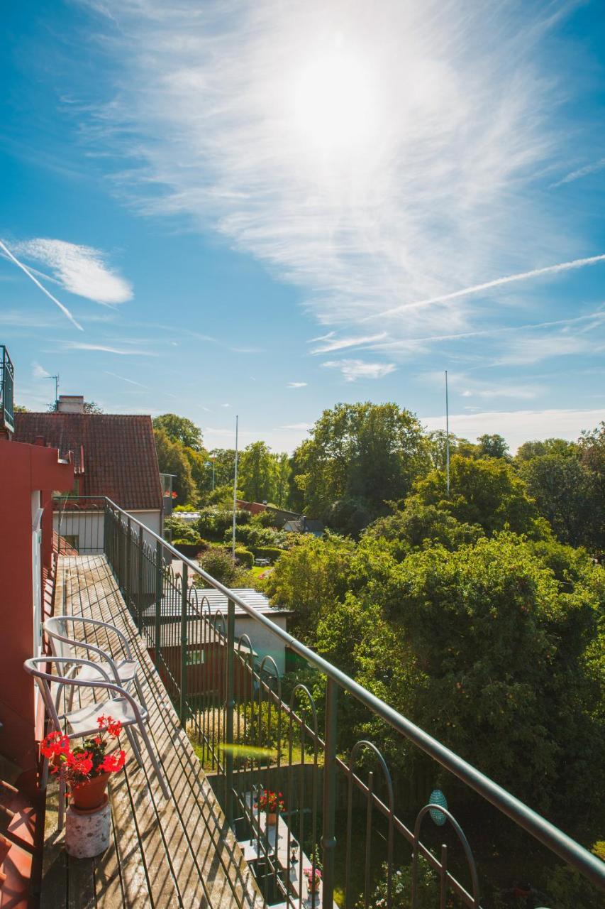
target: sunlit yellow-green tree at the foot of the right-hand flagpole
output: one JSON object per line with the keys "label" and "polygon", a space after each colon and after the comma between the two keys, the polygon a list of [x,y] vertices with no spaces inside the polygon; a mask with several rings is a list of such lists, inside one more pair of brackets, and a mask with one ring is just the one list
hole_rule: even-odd
{"label": "sunlit yellow-green tree at the foot of the right-hand flagpole", "polygon": [[455,454],[450,464],[450,498],[442,470],[432,470],[414,486],[421,504],[435,505],[461,524],[480,524],[487,534],[509,526],[519,534],[535,534],[538,512],[523,480],[503,458],[471,458]]}

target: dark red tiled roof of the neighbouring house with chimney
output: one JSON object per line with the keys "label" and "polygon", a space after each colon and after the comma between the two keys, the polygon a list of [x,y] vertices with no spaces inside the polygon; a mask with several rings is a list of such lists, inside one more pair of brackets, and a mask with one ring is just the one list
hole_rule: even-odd
{"label": "dark red tiled roof of the neighbouring house with chimney", "polygon": [[15,442],[58,448],[84,467],[80,495],[107,495],[126,511],[162,508],[160,472],[150,416],[15,414]]}

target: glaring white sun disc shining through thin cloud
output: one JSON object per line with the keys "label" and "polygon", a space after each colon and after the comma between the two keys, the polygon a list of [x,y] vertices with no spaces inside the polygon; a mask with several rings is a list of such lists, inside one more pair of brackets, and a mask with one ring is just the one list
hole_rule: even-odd
{"label": "glaring white sun disc shining through thin cloud", "polygon": [[366,145],[376,125],[372,71],[342,50],[316,58],[295,86],[294,115],[307,141],[324,152]]}

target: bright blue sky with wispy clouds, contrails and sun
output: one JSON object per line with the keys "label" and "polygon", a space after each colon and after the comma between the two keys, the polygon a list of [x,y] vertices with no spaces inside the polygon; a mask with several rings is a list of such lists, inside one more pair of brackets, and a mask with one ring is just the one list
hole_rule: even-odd
{"label": "bright blue sky with wispy clouds, contrails and sun", "polygon": [[20,403],[58,372],[292,450],[337,401],[443,425],[447,369],[459,435],[603,418],[600,2],[22,0],[3,25]]}

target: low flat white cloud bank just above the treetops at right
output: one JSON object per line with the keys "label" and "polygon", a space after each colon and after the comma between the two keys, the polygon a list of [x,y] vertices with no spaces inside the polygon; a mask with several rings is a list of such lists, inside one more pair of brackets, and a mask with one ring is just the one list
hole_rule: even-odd
{"label": "low flat white cloud bank just above the treetops at right", "polygon": [[[450,430],[471,441],[483,433],[499,433],[514,451],[530,439],[577,439],[582,429],[591,429],[602,419],[602,410],[485,411],[450,414]],[[445,415],[423,416],[421,422],[428,429],[445,429]]]}

